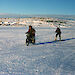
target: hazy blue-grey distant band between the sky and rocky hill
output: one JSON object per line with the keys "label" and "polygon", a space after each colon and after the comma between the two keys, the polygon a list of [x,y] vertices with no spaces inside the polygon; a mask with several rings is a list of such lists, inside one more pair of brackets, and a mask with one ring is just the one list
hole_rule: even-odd
{"label": "hazy blue-grey distant band between the sky and rocky hill", "polygon": [[56,18],[61,20],[73,20],[75,21],[75,15],[25,15],[25,14],[8,14],[0,13],[0,18],[32,18],[32,17],[43,17],[43,18]]}

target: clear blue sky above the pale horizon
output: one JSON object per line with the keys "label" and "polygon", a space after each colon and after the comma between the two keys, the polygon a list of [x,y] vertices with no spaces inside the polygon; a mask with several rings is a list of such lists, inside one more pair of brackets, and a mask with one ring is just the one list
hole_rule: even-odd
{"label": "clear blue sky above the pale horizon", "polygon": [[0,0],[0,13],[75,15],[75,0]]}

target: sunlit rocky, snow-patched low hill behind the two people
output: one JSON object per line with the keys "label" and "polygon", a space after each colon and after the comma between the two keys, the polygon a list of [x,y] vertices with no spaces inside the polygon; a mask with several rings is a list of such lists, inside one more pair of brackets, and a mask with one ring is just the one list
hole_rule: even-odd
{"label": "sunlit rocky, snow-patched low hill behind the two people", "polygon": [[18,26],[18,27],[21,26],[23,27],[23,26],[33,25],[34,27],[56,27],[60,24],[60,27],[67,28],[66,24],[70,24],[70,23],[68,20],[62,20],[62,19],[56,19],[56,18],[41,18],[41,17],[39,18],[38,17],[0,18],[0,26]]}

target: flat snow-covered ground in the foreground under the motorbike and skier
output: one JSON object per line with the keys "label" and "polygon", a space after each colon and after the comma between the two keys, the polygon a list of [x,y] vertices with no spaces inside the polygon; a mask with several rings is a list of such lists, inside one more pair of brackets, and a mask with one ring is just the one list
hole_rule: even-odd
{"label": "flat snow-covered ground in the foreground under the motorbike and skier", "polygon": [[[53,41],[55,27],[34,27],[36,43]],[[26,46],[28,27],[0,27],[0,75],[75,75],[75,23],[56,43]]]}

